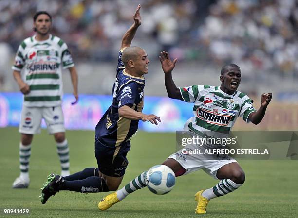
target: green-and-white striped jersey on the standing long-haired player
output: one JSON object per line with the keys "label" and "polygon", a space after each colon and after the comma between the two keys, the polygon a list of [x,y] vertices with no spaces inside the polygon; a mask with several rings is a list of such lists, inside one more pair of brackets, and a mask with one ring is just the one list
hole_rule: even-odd
{"label": "green-and-white striped jersey on the standing long-haired player", "polygon": [[62,67],[75,66],[65,42],[50,35],[47,40],[37,41],[35,35],[20,45],[12,69],[22,71],[22,78],[30,86],[24,95],[28,107],[53,107],[61,104]]}

